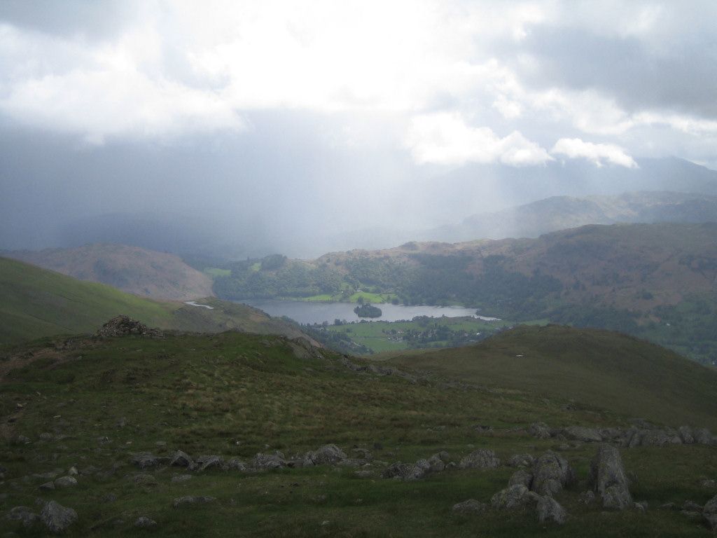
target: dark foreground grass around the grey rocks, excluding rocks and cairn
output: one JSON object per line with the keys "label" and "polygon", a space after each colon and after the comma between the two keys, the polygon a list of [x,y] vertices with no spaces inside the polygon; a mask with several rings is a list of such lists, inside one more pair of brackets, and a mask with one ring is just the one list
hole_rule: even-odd
{"label": "dark foreground grass around the grey rocks, excluding rocks and cairn", "polygon": [[[603,337],[607,335],[596,333],[584,341],[579,331],[551,328],[540,338],[511,331],[500,341],[505,354],[538,354],[547,364],[548,354],[566,347],[583,349]],[[602,351],[614,352],[614,343]],[[534,344],[541,347],[533,349]],[[656,351],[633,342],[630,352],[641,359],[624,362],[622,374],[636,379],[645,369],[662,372],[669,366],[663,362],[678,361],[657,354],[653,364],[650,357]],[[144,533],[134,526],[140,516],[153,519],[156,527],[150,532],[162,537],[226,537],[237,532],[247,537],[711,536],[701,522],[657,507],[666,502],[681,505],[686,499],[704,504],[714,495],[701,482],[717,475],[714,446],[622,449],[632,494],[647,501],[649,509],[618,512],[579,502],[588,487],[594,443],[526,433],[526,426],[536,420],[554,427],[625,427],[647,400],[663,421],[679,418],[673,423],[678,425],[683,419],[675,415],[675,400],[643,390],[636,392],[635,407],[625,407],[626,415],[609,409],[609,401],[566,405],[566,395],[576,385],[592,394],[606,380],[614,382],[611,357],[601,362],[597,351],[590,357],[590,379],[556,377],[553,392],[546,395],[537,383],[524,383],[525,390],[511,387],[521,369],[505,361],[496,361],[486,370],[488,377],[479,379],[480,385],[493,385],[486,389],[436,375],[355,372],[341,356],[277,336],[125,336],[21,351],[6,357],[7,373],[0,379],[0,517],[8,531],[41,535],[42,524],[25,528],[4,519],[14,506],[39,511],[34,508],[39,498],[77,511],[69,537]],[[689,384],[676,383],[674,396],[690,403],[678,413],[695,411],[690,422],[703,425],[702,419],[715,415],[717,379],[684,360],[680,366],[690,372],[685,377]],[[690,368],[701,368],[706,382],[693,383]],[[455,372],[463,376],[463,370]],[[467,372],[470,375],[470,368]],[[499,388],[503,382],[507,386]],[[660,384],[654,387],[660,390]],[[701,410],[690,407],[698,401],[704,404]],[[493,430],[486,435],[476,425]],[[249,462],[259,452],[274,450],[291,458],[324,443],[336,443],[350,458],[366,459],[360,467],[263,472],[189,471],[168,467],[168,459],[144,469],[133,464],[138,454],[169,458],[177,449],[193,458],[221,456],[225,462]],[[439,450],[446,450],[450,461],[460,461],[477,448],[494,450],[503,464],[455,468],[417,481],[381,478],[390,463],[413,462]],[[453,504],[470,498],[489,503],[515,471],[505,465],[511,455],[537,456],[549,449],[558,450],[576,472],[576,482],[555,495],[571,516],[564,526],[538,524],[530,510],[467,516],[451,511]],[[62,476],[73,466],[79,472],[76,486],[39,489],[52,473]],[[174,508],[174,499],[183,496],[214,500]]]}

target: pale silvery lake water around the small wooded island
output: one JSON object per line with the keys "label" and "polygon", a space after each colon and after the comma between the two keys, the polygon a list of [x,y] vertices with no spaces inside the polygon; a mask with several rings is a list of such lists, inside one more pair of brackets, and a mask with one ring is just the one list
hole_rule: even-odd
{"label": "pale silvery lake water around the small wooded island", "polygon": [[462,306],[406,306],[402,304],[376,304],[383,314],[380,318],[359,318],[353,312],[356,304],[353,303],[313,303],[310,301],[277,301],[277,300],[247,300],[237,301],[241,303],[260,308],[270,316],[280,317],[287,316],[300,324],[321,324],[324,321],[333,324],[335,319],[345,319],[346,321],[399,321],[402,319],[411,320],[416,316],[429,316],[432,318],[440,318],[447,316],[449,318],[457,318],[462,316],[470,316],[480,318],[484,321],[495,321],[498,318],[489,318],[485,316],[476,316],[475,308],[464,308]]}

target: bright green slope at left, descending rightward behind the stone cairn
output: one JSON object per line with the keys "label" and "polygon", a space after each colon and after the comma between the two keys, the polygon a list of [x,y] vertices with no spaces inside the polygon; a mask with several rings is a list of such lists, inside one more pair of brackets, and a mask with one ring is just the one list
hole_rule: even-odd
{"label": "bright green slope at left, descending rightward behind the stone cairn", "polygon": [[0,258],[0,348],[54,334],[96,331],[125,314],[163,329],[217,332],[229,329],[299,336],[293,326],[250,306],[208,299],[213,310],[159,302],[104,284],[8,258]]}

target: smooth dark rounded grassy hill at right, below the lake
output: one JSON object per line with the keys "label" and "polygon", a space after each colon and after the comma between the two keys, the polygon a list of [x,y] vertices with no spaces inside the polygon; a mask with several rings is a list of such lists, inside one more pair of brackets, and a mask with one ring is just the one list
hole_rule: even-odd
{"label": "smooth dark rounded grassy hill at right, below the lake", "polygon": [[391,364],[489,387],[561,395],[580,405],[717,429],[717,371],[611,331],[519,326],[456,349],[405,352]]}

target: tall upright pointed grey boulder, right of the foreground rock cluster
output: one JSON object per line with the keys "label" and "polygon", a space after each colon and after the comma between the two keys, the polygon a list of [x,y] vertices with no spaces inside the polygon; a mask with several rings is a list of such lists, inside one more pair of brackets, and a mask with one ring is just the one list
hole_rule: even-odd
{"label": "tall upright pointed grey boulder, right of the foreground rock cluster", "polygon": [[632,506],[625,468],[614,446],[599,445],[590,465],[590,481],[605,508],[624,510]]}

